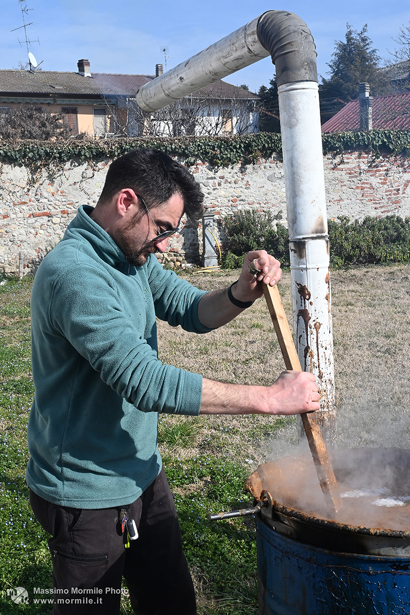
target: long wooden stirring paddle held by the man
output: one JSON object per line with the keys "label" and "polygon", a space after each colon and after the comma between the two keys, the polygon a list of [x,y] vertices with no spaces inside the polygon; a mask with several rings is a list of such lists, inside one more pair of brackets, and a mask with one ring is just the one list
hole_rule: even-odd
{"label": "long wooden stirring paddle held by the man", "polygon": [[[250,271],[252,272],[251,268]],[[279,346],[283,354],[283,359],[285,359],[286,369],[302,371],[278,288],[277,286],[264,284],[263,290],[270,317],[274,323]],[[325,496],[326,506],[328,506],[329,512],[337,514],[337,512],[341,510],[342,499],[316,415],[314,412],[309,414],[303,413],[301,414],[301,419],[307,442],[309,442],[309,448],[312,453],[321,490]]]}

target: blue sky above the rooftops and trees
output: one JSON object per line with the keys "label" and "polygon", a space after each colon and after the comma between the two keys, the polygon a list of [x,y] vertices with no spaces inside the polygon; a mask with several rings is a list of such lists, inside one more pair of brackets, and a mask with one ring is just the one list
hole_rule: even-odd
{"label": "blue sky above the rooftops and trees", "polygon": [[[88,58],[95,73],[153,74],[164,63],[160,48],[167,46],[168,68],[196,54],[270,9],[290,10],[301,17],[313,34],[318,52],[318,72],[326,65],[334,41],[344,39],[346,23],[355,30],[368,24],[368,35],[382,58],[393,50],[401,25],[409,25],[408,0],[26,0],[26,22],[33,43],[30,50],[44,70],[76,71],[77,60]],[[275,6],[274,6],[275,4]],[[26,62],[24,31],[18,0],[1,0],[0,68],[17,68]],[[165,67],[164,67],[165,68]],[[256,91],[269,85],[274,73],[270,58],[226,78],[235,85],[248,84]]]}

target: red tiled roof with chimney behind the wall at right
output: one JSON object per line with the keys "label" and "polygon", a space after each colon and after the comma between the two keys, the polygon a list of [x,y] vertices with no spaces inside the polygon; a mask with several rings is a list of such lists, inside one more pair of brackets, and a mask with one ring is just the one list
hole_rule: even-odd
{"label": "red tiled roof with chimney behind the wall at right", "polygon": [[369,84],[359,84],[359,97],[322,125],[322,132],[349,130],[410,130],[410,92],[369,96]]}

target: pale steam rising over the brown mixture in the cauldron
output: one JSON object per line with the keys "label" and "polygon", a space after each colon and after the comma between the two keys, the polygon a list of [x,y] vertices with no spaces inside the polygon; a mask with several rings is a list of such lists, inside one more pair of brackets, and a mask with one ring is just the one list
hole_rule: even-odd
{"label": "pale steam rising over the brown mixture in the cauldron", "polygon": [[[408,438],[398,437],[409,421],[403,417],[388,423],[383,418],[369,429],[359,413],[357,418],[356,423],[367,429],[361,440],[363,446],[329,449],[343,502],[336,518],[326,509],[307,442],[295,443],[296,426],[287,427],[270,441],[275,461],[262,466],[263,470],[258,469],[263,487],[283,506],[313,517],[347,525],[410,531],[410,477],[406,470],[410,465],[410,447]],[[398,441],[407,446],[395,446]]]}

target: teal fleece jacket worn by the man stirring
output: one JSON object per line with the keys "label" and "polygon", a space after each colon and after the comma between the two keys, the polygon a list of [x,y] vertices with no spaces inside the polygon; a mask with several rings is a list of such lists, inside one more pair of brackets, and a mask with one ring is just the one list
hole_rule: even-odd
{"label": "teal fleece jacket worn by the man stirring", "polygon": [[156,315],[205,333],[204,292],[164,271],[135,268],[79,208],[42,261],[31,295],[34,402],[26,482],[42,498],[85,509],[135,501],[162,462],[158,415],[197,415],[202,376],[158,359]]}

